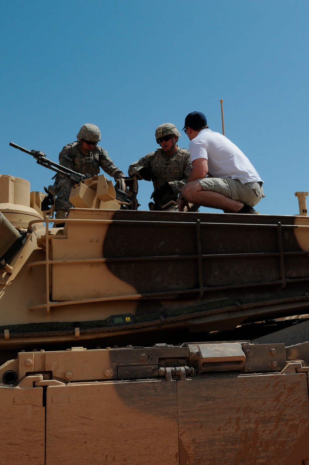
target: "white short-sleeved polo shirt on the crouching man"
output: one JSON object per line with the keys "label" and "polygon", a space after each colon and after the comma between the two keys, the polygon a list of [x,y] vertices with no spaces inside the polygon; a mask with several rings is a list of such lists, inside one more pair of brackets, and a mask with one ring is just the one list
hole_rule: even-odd
{"label": "white short-sleeved polo shirt on the crouching man", "polygon": [[208,172],[214,178],[239,179],[246,182],[262,181],[254,166],[229,139],[210,129],[202,129],[189,144],[191,161],[208,160]]}

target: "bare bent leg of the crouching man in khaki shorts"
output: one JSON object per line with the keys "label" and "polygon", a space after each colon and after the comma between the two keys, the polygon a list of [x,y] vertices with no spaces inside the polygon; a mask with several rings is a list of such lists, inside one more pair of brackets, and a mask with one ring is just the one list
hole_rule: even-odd
{"label": "bare bent leg of the crouching man in khaki shorts", "polygon": [[197,205],[219,208],[226,213],[236,213],[242,209],[243,203],[230,199],[225,195],[215,191],[204,191],[199,181],[188,182],[182,188],[182,193],[186,200]]}

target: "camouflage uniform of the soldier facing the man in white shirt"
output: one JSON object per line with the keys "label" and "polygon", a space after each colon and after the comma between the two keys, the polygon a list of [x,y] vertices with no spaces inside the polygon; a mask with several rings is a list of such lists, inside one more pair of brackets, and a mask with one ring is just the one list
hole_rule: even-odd
{"label": "camouflage uniform of the soldier facing the man in white shirt", "polygon": [[188,175],[192,171],[190,152],[185,148],[177,148],[172,155],[167,155],[160,147],[155,152],[148,153],[145,157],[134,161],[129,166],[128,174],[136,174],[137,179],[143,179],[139,174],[141,168],[147,167],[154,174],[153,184],[155,190],[165,182],[169,182],[173,193],[163,195],[158,206],[161,208],[171,200],[177,200],[178,193],[187,182]]}

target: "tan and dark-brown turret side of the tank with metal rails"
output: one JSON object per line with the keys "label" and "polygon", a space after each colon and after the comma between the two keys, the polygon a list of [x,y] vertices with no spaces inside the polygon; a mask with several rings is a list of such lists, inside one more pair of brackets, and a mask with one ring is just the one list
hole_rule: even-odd
{"label": "tan and dark-brown turret side of the tank with metal rails", "polygon": [[0,282],[1,349],[145,342],[308,312],[306,217],[74,208],[47,234],[39,221]]}

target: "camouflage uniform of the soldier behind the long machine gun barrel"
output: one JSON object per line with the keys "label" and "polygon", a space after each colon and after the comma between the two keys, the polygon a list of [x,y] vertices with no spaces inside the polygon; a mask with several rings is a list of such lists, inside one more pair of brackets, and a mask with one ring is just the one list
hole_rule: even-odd
{"label": "camouflage uniform of the soldier behind the long machine gun barrel", "polygon": [[[95,176],[100,172],[100,166],[114,179],[125,178],[122,171],[114,165],[113,161],[107,155],[107,151],[100,146],[96,146],[87,157],[81,152],[80,142],[76,141],[68,144],[59,153],[59,163],[62,166],[77,171],[81,174],[90,174]],[[72,181],[57,176],[53,186],[48,186],[49,192],[57,196],[55,210],[68,210],[72,207],[69,201],[71,189],[74,186]]]}

